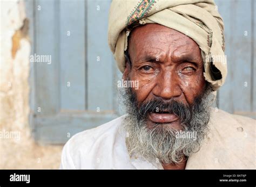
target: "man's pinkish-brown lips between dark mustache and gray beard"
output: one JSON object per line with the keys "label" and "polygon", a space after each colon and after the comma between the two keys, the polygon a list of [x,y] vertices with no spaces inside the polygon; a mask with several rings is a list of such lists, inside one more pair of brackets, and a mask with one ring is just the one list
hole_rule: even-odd
{"label": "man's pinkish-brown lips between dark mustache and gray beard", "polygon": [[172,123],[178,120],[178,116],[173,113],[149,113],[149,119],[154,123]]}

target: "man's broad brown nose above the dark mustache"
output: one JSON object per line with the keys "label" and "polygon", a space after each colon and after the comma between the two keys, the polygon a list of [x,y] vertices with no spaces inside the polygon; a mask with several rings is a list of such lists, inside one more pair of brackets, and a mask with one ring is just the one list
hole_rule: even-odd
{"label": "man's broad brown nose above the dark mustache", "polygon": [[171,71],[165,71],[158,75],[156,86],[153,88],[152,93],[156,97],[161,97],[164,100],[177,98],[182,94],[179,86],[179,77]]}

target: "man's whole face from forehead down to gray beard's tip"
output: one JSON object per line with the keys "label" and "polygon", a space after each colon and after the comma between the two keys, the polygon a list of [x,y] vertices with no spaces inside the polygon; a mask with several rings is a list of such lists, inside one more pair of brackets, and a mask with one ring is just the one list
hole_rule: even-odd
{"label": "man's whole face from forehead down to gray beard's tip", "polygon": [[208,132],[212,95],[200,49],[178,31],[147,24],[132,31],[129,53],[123,78],[139,86],[123,92],[127,150],[179,163],[199,150]]}

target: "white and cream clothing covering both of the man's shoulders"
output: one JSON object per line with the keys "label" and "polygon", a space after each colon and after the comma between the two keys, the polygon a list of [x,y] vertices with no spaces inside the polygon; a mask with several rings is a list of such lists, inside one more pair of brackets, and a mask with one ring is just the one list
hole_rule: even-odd
{"label": "white and cream clothing covering both of the man's shoulders", "polygon": [[[130,159],[119,117],[66,142],[60,169],[163,169],[156,161]],[[255,169],[255,120],[212,110],[211,133],[185,169]]]}

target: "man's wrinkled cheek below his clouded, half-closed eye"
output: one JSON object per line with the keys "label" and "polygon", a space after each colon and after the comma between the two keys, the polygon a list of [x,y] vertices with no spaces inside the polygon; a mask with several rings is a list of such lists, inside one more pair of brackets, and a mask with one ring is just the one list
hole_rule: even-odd
{"label": "man's wrinkled cheek below his clouded, half-closed eye", "polygon": [[205,78],[203,71],[198,72],[194,76],[182,76],[180,77],[180,88],[186,97],[189,104],[192,104],[194,98],[203,93],[205,89]]}

